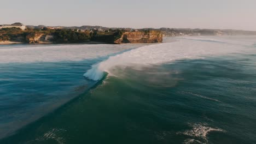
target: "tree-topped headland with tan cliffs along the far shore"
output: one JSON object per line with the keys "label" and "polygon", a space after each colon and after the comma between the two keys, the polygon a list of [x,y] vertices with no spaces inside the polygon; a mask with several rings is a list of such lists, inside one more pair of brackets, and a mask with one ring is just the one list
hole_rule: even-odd
{"label": "tree-topped headland with tan cliffs along the far shore", "polygon": [[[109,29],[105,31],[79,31],[77,29],[30,29],[22,31],[19,28],[0,29],[0,41],[10,40],[22,43],[86,43],[99,41],[108,44],[125,39],[121,43],[160,43],[162,35],[160,31],[142,30],[141,32],[127,32],[124,29]],[[50,37],[50,39],[49,39]]]}

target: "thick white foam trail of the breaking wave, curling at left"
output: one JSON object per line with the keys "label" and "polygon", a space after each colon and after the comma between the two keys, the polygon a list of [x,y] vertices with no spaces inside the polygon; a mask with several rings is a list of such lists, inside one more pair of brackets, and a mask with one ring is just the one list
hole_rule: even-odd
{"label": "thick white foam trail of the breaking wave, curling at left", "polygon": [[100,80],[104,71],[111,74],[109,70],[117,65],[161,64],[181,59],[227,55],[242,52],[243,49],[244,47],[241,45],[179,39],[179,41],[173,43],[143,46],[109,57],[107,61],[93,65],[84,76],[91,80]]}

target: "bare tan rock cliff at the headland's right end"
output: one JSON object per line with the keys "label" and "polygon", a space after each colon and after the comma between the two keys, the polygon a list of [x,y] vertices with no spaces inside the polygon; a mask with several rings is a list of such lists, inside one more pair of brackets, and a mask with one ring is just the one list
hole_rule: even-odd
{"label": "bare tan rock cliff at the headland's right end", "polygon": [[160,31],[124,32],[114,43],[162,43],[162,33]]}

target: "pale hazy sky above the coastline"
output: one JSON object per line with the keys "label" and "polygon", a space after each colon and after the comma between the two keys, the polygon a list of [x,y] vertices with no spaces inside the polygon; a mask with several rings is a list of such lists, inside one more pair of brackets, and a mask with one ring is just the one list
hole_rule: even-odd
{"label": "pale hazy sky above the coastline", "polygon": [[256,0],[8,0],[0,24],[256,31]]}

